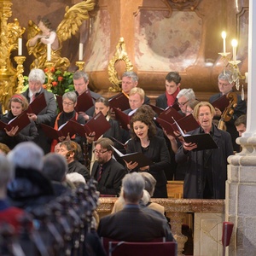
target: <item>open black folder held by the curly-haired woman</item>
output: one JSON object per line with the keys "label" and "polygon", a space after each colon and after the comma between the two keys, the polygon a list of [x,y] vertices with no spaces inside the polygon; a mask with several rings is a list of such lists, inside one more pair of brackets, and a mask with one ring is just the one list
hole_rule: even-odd
{"label": "open black folder held by the curly-haired woman", "polygon": [[138,163],[138,168],[143,167],[143,166],[150,166],[153,164],[152,160],[148,159],[147,156],[145,156],[141,152],[135,152],[131,154],[122,154],[117,148],[114,148],[111,146],[114,150],[114,152],[121,158],[122,160],[125,160],[125,162],[137,162]]}

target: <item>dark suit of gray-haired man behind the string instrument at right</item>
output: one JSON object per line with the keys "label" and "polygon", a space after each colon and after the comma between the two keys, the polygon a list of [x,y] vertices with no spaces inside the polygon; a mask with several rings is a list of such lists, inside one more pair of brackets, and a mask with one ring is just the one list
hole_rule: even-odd
{"label": "dark suit of gray-haired man behind the string instrument at right", "polygon": [[[210,97],[209,102],[212,103],[216,101],[219,97],[223,96],[222,93],[215,94]],[[240,151],[240,145],[236,144],[236,138],[239,137],[238,131],[236,131],[236,125],[234,124],[236,119],[241,116],[241,114],[247,113],[247,103],[241,100],[241,96],[237,95],[237,106],[235,108],[234,114],[230,121],[225,122],[227,131],[230,133],[232,138],[233,149],[236,152]],[[220,119],[219,117],[214,117],[214,119]]]}

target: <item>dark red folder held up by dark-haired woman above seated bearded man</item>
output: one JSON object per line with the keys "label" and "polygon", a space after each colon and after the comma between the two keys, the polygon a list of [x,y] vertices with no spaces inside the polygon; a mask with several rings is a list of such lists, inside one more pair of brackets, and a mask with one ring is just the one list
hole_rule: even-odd
{"label": "dark red folder held up by dark-haired woman above seated bearded man", "polygon": [[85,133],[89,135],[91,132],[95,132],[96,135],[94,140],[97,140],[102,134],[111,127],[106,117],[103,115],[102,111],[97,113],[93,118],[91,118],[85,125],[80,125],[77,122],[73,122],[74,129],[79,133],[81,137],[85,137]]}

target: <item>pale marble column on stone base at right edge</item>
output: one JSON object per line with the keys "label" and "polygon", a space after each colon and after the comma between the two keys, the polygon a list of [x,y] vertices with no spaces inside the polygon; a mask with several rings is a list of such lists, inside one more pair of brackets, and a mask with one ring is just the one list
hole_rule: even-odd
{"label": "pale marble column on stone base at right edge", "polygon": [[243,150],[230,156],[226,187],[226,220],[234,230],[228,249],[229,255],[256,255],[256,3],[249,1],[247,131],[237,143]]}

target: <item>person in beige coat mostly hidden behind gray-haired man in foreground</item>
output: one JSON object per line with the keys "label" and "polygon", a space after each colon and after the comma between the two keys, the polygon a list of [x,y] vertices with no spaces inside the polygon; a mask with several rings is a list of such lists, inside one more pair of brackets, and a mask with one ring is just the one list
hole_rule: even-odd
{"label": "person in beige coat mostly hidden behind gray-haired man in foreground", "polygon": [[[154,186],[156,184],[155,178],[148,172],[139,172],[140,175],[144,178],[145,189],[143,190],[143,197],[139,203],[141,207],[148,207],[152,210],[160,212],[165,215],[165,207],[160,206],[158,203],[151,202],[151,196],[154,195]],[[112,209],[112,213],[119,212],[125,207],[124,191],[121,188],[121,193],[119,199],[115,201]]]}

